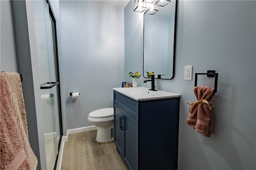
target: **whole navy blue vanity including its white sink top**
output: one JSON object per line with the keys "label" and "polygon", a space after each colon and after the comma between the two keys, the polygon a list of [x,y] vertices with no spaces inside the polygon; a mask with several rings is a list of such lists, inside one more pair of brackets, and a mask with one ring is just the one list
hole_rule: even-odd
{"label": "whole navy blue vanity including its white sink top", "polygon": [[180,94],[113,88],[114,143],[130,170],[176,170]]}

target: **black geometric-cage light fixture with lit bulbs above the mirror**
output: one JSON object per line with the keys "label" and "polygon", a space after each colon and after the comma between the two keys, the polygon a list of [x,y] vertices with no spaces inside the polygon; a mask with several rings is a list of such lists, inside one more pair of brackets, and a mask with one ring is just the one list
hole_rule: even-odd
{"label": "black geometric-cage light fixture with lit bulbs above the mirror", "polygon": [[171,0],[134,0],[134,11],[153,15],[158,12],[158,6],[166,6],[169,2]]}

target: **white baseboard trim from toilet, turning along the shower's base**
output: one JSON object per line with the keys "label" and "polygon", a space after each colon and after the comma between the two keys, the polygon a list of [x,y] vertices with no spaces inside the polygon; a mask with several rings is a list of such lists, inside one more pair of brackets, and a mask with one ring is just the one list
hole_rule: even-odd
{"label": "white baseboard trim from toilet, turning along the shower's base", "polygon": [[62,164],[62,156],[63,156],[63,150],[64,150],[64,143],[68,141],[68,135],[74,134],[74,133],[81,133],[86,131],[92,131],[96,130],[98,127],[92,125],[92,126],[86,126],[86,127],[80,127],[76,129],[69,129],[67,130],[67,136],[63,136],[60,144],[60,152],[58,156],[58,162],[56,166],[56,170],[61,170],[61,164]]}

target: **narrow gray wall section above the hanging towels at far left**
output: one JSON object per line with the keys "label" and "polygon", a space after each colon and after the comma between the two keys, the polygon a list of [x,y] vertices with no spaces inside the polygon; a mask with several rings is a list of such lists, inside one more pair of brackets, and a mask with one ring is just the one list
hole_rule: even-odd
{"label": "narrow gray wall section above the hanging towels at far left", "polygon": [[17,72],[14,36],[12,29],[12,11],[9,0],[0,1],[1,12],[1,55],[0,69],[5,72]]}

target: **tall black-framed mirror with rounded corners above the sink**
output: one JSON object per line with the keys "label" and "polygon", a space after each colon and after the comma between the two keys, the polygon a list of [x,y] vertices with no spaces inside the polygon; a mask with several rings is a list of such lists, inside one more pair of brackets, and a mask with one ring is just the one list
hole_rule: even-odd
{"label": "tall black-framed mirror with rounded corners above the sink", "polygon": [[172,0],[154,15],[144,13],[144,78],[148,78],[146,71],[154,72],[157,79],[174,78],[177,8],[177,0]]}

